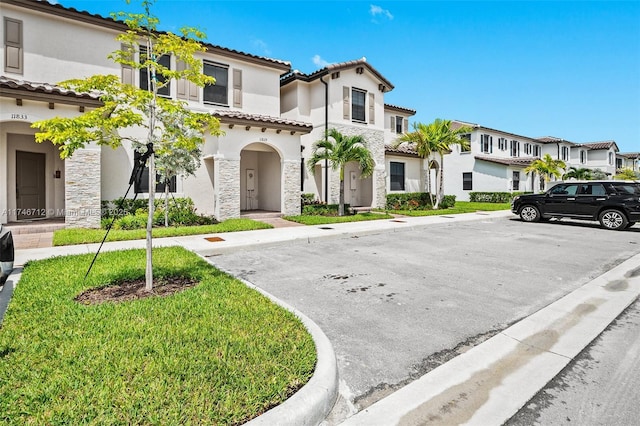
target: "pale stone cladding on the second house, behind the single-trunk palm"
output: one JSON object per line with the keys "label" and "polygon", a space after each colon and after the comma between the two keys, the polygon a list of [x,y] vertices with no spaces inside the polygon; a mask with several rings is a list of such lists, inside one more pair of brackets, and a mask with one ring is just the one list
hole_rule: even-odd
{"label": "pale stone cladding on the second house, behind the single-trunk palm", "polygon": [[[329,125],[329,128],[335,128],[343,135],[360,135],[367,141],[367,148],[371,151],[371,155],[376,163],[375,170],[373,172],[372,184],[373,184],[373,201],[372,207],[384,208],[387,199],[387,172],[385,169],[384,160],[384,130],[380,129],[368,129],[356,126],[345,126],[344,124]],[[329,197],[332,202],[337,203],[340,196],[340,177],[338,173],[332,173],[331,178],[331,193]]]}

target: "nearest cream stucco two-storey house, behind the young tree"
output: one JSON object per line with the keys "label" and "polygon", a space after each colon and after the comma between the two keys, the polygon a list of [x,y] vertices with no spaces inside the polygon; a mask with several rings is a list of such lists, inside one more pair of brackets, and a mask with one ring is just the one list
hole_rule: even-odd
{"label": "nearest cream stucco two-storey house, behind the young tree", "polygon": [[[99,226],[100,201],[124,195],[136,153],[130,147],[93,145],[62,161],[57,148],[34,142],[31,124],[73,117],[99,105],[95,97],[62,90],[55,82],[117,74],[125,82],[143,84],[131,69],[107,58],[120,48],[115,37],[126,26],[46,2],[1,4],[0,176],[7,179],[0,184],[0,223],[66,216],[69,226]],[[199,213],[219,220],[255,209],[298,214],[301,136],[313,127],[280,114],[280,76],[290,72],[290,64],[206,47],[204,72],[217,84],[198,88],[172,82],[164,95],[210,111],[225,134],[206,138],[196,176],[176,179],[170,191],[191,197]],[[175,58],[166,59],[167,65],[180,66]],[[135,190],[145,197],[148,183]]]}

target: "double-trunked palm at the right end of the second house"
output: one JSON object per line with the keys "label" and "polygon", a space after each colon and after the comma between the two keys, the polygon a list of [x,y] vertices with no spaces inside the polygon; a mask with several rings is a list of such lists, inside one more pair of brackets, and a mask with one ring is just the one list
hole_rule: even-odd
{"label": "double-trunked palm at the right end of the second house", "polygon": [[[423,124],[414,123],[413,132],[402,135],[395,143],[395,146],[403,142],[413,143],[418,156],[421,158],[429,158],[433,153],[440,156],[439,164],[439,185],[436,196],[436,202],[431,204],[437,209],[444,198],[444,154],[451,152],[452,145],[460,145],[463,149],[469,148],[469,141],[460,137],[460,135],[471,133],[471,127],[462,126],[457,129],[451,128],[451,120],[442,120],[436,118],[433,123]],[[427,168],[427,191],[431,197],[431,167]]]}

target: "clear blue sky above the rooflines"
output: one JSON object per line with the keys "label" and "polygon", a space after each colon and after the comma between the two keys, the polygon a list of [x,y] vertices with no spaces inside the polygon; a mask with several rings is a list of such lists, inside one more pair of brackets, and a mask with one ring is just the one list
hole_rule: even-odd
{"label": "clear blue sky above the rooflines", "polygon": [[[123,0],[59,0],[108,16]],[[310,73],[367,58],[412,121],[458,119],[640,151],[640,1],[157,0],[164,30]]]}

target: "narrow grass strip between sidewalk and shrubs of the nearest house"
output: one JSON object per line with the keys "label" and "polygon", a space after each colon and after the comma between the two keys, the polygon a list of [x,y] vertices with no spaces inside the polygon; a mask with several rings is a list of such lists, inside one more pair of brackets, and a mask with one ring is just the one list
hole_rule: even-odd
{"label": "narrow grass strip between sidewalk and shrubs of the nearest house", "polygon": [[[216,234],[220,232],[236,232],[236,231],[250,231],[254,229],[268,229],[273,228],[271,225],[258,222],[251,219],[228,219],[224,222],[220,222],[215,225],[202,225],[202,226],[178,226],[168,228],[154,228],[153,237],[180,237],[185,235],[200,235],[200,234]],[[104,229],[84,229],[84,228],[72,228],[72,229],[60,229],[53,234],[54,246],[66,246],[72,244],[89,244],[99,243],[104,238]],[[145,229],[133,229],[133,230],[114,230],[109,231],[107,241],[128,241],[128,240],[143,240],[146,238]]]}

